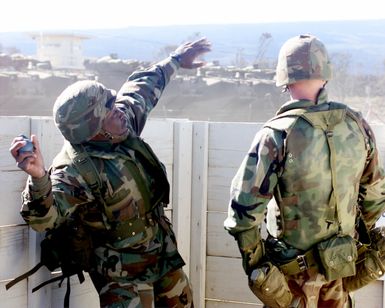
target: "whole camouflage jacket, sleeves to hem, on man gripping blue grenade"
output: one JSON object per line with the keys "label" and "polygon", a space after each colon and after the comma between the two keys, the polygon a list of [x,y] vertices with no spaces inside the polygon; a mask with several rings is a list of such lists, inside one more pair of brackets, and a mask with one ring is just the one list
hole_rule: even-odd
{"label": "whole camouflage jacket, sleeves to hem, on man gripping blue grenade", "polygon": [[[178,67],[176,60],[167,59],[148,70],[134,73],[123,84],[115,104],[126,114],[130,135],[141,134],[149,112],[157,104]],[[127,159],[136,162],[149,191],[157,185],[156,178],[146,174],[145,166],[124,142],[112,144],[109,141],[89,141],[83,145],[105,184],[102,195],[107,205],[107,216],[113,220],[116,228],[120,224],[124,226],[130,219],[137,217],[137,211],[143,208],[145,198],[125,167],[125,162]],[[57,156],[49,173],[43,178],[29,177],[22,200],[21,215],[36,231],[54,228],[75,210],[84,212],[85,223],[95,230],[106,228],[103,213],[95,206],[92,190],[63,152]],[[148,238],[142,239],[134,247],[130,240],[116,237],[96,248],[98,266],[95,274],[103,276],[107,283],[113,283],[111,288],[117,289],[118,294],[131,294],[136,284],[155,283],[184,265],[171,227],[161,216],[161,212],[156,215],[159,227],[154,229],[154,234],[150,233]],[[119,284],[130,287],[120,289]],[[96,287],[99,290],[110,289],[108,285]],[[124,305],[127,304],[126,299]],[[113,304],[103,302],[107,306]]]}

